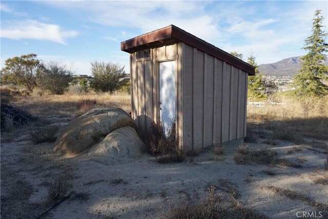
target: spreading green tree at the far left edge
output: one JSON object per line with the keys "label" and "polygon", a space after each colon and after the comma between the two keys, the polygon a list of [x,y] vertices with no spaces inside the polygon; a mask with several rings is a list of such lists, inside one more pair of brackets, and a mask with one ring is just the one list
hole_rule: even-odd
{"label": "spreading green tree at the far left edge", "polygon": [[36,54],[15,56],[5,61],[5,67],[1,69],[1,81],[3,83],[21,84],[29,91],[36,87],[37,74],[42,69],[42,64]]}

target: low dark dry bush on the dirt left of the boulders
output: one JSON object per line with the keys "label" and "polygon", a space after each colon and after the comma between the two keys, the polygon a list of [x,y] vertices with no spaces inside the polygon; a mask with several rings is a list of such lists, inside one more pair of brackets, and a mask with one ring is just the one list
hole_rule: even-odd
{"label": "low dark dry bush on the dirt left of the boulders", "polygon": [[35,144],[43,142],[54,142],[56,141],[56,132],[58,131],[59,126],[46,126],[37,130],[31,130],[30,136],[31,140]]}

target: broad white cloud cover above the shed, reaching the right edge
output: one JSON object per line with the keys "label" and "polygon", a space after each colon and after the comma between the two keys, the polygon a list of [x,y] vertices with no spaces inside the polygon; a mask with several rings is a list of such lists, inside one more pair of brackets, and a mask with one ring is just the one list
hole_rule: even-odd
{"label": "broad white cloud cover above the shed, reaching the right edge", "polygon": [[326,1],[263,1],[260,4],[251,1],[101,1],[97,4],[56,1],[44,4],[83,11],[84,17],[96,24],[124,30],[105,37],[109,40],[124,41],[174,24],[228,52],[241,52],[247,57],[252,49],[259,64],[304,54],[301,47],[311,34],[314,11],[322,9],[325,26],[328,18]]}

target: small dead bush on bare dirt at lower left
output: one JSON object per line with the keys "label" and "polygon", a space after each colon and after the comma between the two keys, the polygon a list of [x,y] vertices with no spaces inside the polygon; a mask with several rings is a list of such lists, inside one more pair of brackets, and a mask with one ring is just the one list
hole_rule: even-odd
{"label": "small dead bush on bare dirt at lower left", "polygon": [[64,197],[69,188],[69,184],[65,177],[58,177],[50,182],[48,194],[51,200],[56,201]]}

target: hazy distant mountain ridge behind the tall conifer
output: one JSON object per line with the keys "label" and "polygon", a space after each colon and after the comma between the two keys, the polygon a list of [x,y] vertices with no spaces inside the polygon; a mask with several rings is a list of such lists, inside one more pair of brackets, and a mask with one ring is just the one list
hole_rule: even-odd
{"label": "hazy distant mountain ridge behind the tall conifer", "polygon": [[[263,74],[271,76],[293,76],[301,68],[302,62],[300,57],[285,58],[271,64],[261,64],[258,66],[258,70]],[[328,62],[324,62],[324,65],[328,65]]]}

